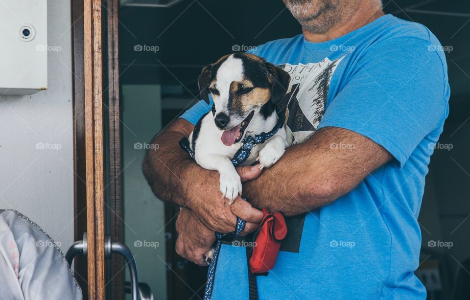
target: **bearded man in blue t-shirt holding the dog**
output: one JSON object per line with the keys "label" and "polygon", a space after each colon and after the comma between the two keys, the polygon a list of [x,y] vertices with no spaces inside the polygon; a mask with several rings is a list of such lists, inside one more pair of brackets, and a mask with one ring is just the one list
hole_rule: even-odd
{"label": "bearded man in blue t-shirt holding the dog", "polygon": [[[282,211],[288,236],[276,266],[257,277],[259,299],[425,299],[414,275],[427,165],[448,114],[447,64],[423,25],[384,15],[380,0],[284,0],[303,34],[251,50],[289,72],[282,159],[259,174],[239,168],[232,206],[216,171],[179,148],[211,109],[198,102],[157,135],[143,170],[160,199],[178,204],[176,251],[203,265],[214,231],[256,208]],[[225,54],[225,53],[221,53]],[[213,299],[247,299],[245,249],[224,244]]]}

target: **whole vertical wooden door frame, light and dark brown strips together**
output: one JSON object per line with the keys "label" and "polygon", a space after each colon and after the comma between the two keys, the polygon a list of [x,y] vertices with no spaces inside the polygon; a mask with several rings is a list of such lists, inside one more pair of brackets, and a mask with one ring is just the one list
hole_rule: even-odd
{"label": "whole vertical wooden door frame, light and dark brown strips together", "polygon": [[[74,239],[88,236],[87,259],[75,259],[75,277],[79,281],[84,299],[104,299],[105,214],[110,212],[111,239],[123,242],[120,127],[118,82],[118,0],[71,0],[71,30],[73,46],[73,115],[74,115]],[[102,7],[106,11],[102,11]],[[101,17],[107,13],[107,36]],[[109,210],[104,204],[105,154],[103,123],[103,40],[108,47],[108,99],[109,99]],[[123,259],[113,255],[111,272],[111,299],[124,297]],[[86,278],[86,279],[85,279]]]}

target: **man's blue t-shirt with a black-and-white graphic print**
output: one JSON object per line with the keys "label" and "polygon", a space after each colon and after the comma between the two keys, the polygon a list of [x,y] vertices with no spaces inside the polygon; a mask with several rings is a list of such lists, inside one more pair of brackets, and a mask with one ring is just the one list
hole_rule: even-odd
{"label": "man's blue t-shirt with a black-and-white graphic print", "polygon": [[[259,299],[425,299],[413,273],[421,248],[417,218],[450,93],[437,38],[421,24],[386,15],[324,43],[298,35],[252,52],[291,75],[286,125],[294,143],[341,127],[394,157],[346,195],[289,220],[276,266],[257,277]],[[200,101],[181,117],[195,124],[210,108]],[[222,246],[212,296],[248,299],[243,247]]]}

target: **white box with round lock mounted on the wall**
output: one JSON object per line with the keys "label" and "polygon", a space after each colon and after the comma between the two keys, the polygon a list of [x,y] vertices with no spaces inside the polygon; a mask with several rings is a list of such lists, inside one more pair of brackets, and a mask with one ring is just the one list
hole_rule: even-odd
{"label": "white box with round lock mounted on the wall", "polygon": [[46,90],[49,48],[47,0],[1,0],[0,96]]}

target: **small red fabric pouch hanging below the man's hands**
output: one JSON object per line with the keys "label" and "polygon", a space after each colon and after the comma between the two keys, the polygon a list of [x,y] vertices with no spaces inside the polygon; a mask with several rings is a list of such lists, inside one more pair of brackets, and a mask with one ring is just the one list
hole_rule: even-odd
{"label": "small red fabric pouch hanging below the man's hands", "polygon": [[287,234],[287,226],[281,212],[269,213],[263,208],[263,220],[250,257],[251,273],[265,273],[276,263],[281,242]]}

